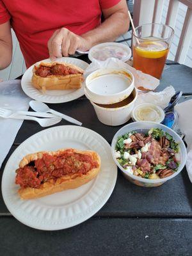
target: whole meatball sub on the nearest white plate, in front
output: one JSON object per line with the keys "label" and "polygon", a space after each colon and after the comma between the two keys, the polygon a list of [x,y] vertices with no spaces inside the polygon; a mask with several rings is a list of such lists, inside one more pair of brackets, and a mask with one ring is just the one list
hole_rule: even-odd
{"label": "whole meatball sub on the nearest white plate, in front", "polygon": [[77,188],[94,179],[99,170],[100,157],[93,151],[37,152],[20,161],[15,183],[20,185],[20,198],[38,198]]}

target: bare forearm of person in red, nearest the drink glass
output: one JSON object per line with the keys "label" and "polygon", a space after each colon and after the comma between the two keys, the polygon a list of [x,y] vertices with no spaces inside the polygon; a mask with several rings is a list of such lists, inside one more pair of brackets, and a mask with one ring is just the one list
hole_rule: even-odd
{"label": "bare forearm of person in red, nearest the drink glass", "polygon": [[[118,36],[129,29],[129,16],[125,13],[114,13],[106,19],[98,28],[95,28],[81,35],[90,42],[90,47],[100,42],[113,42]],[[89,48],[90,48],[89,47]]]}

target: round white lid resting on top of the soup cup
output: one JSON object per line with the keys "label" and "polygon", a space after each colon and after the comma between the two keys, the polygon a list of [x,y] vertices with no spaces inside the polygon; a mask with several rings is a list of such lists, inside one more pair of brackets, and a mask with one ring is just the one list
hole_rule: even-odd
{"label": "round white lid resting on top of the soup cup", "polygon": [[86,77],[88,99],[98,104],[120,102],[132,93],[134,77],[124,68],[100,68]]}

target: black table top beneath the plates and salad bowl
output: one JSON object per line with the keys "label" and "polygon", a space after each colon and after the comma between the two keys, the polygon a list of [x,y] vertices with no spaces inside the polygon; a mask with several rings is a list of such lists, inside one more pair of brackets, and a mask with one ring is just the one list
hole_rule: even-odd
{"label": "black table top beneath the plates and salad bowl", "polygon": [[[192,95],[192,69],[168,62],[158,90],[168,85]],[[85,97],[49,106],[77,118],[109,143],[123,126],[101,124]],[[62,120],[59,125],[68,122]],[[1,176],[15,148],[43,129],[35,122],[22,124],[1,167]],[[95,216],[76,227],[54,232],[26,227],[12,217],[2,195],[0,198],[0,255],[192,255],[192,193],[186,168],[158,188],[141,188],[118,172],[111,197]]]}

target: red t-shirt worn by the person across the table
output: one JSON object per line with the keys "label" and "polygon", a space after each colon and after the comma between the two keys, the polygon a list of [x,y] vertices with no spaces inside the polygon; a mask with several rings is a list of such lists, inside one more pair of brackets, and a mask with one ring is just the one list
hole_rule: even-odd
{"label": "red t-shirt worn by the person across the table", "polygon": [[0,24],[10,19],[26,66],[49,58],[47,41],[56,29],[81,35],[100,24],[101,10],[120,0],[0,0]]}

